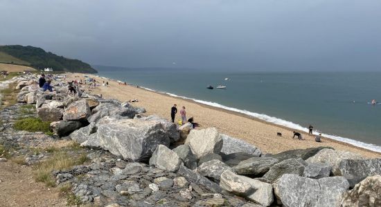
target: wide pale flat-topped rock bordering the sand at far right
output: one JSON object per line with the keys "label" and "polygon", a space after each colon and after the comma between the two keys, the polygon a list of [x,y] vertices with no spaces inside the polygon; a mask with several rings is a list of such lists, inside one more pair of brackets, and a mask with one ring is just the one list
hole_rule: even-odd
{"label": "wide pale flat-topped rock bordering the sand at far right", "polygon": [[322,149],[317,152],[313,157],[308,158],[308,163],[326,163],[332,166],[333,172],[337,169],[340,161],[343,159],[364,159],[360,155],[357,155],[353,152],[346,152],[342,150],[333,150],[333,149]]}

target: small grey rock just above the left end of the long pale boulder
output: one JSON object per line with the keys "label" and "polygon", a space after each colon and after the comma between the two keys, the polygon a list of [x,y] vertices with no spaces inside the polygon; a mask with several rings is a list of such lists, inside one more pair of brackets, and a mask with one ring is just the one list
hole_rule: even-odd
{"label": "small grey rock just above the left end of the long pale boulder", "polygon": [[208,177],[213,181],[220,181],[221,174],[225,170],[231,170],[231,168],[218,159],[206,161],[197,168],[197,172],[200,175]]}

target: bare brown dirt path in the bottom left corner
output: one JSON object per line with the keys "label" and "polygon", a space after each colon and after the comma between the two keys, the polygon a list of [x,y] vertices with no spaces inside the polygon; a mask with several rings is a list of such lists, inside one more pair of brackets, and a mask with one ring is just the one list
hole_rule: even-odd
{"label": "bare brown dirt path in the bottom left corner", "polygon": [[55,188],[33,178],[32,169],[11,161],[0,162],[0,206],[66,206]]}

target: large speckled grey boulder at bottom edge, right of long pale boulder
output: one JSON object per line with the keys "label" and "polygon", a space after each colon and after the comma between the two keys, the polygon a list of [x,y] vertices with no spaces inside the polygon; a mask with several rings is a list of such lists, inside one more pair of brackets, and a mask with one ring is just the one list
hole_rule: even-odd
{"label": "large speckled grey boulder at bottom edge, right of long pale boulder", "polygon": [[310,179],[285,174],[273,184],[278,204],[283,206],[338,206],[342,194],[349,188],[344,177]]}

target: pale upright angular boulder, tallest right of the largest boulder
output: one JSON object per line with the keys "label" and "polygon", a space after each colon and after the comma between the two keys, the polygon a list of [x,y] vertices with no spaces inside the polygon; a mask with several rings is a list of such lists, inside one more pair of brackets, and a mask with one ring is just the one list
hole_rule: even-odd
{"label": "pale upright angular boulder, tallest right of the largest boulder", "polygon": [[210,153],[218,154],[222,148],[222,138],[216,128],[191,130],[185,144],[190,146],[197,159]]}

